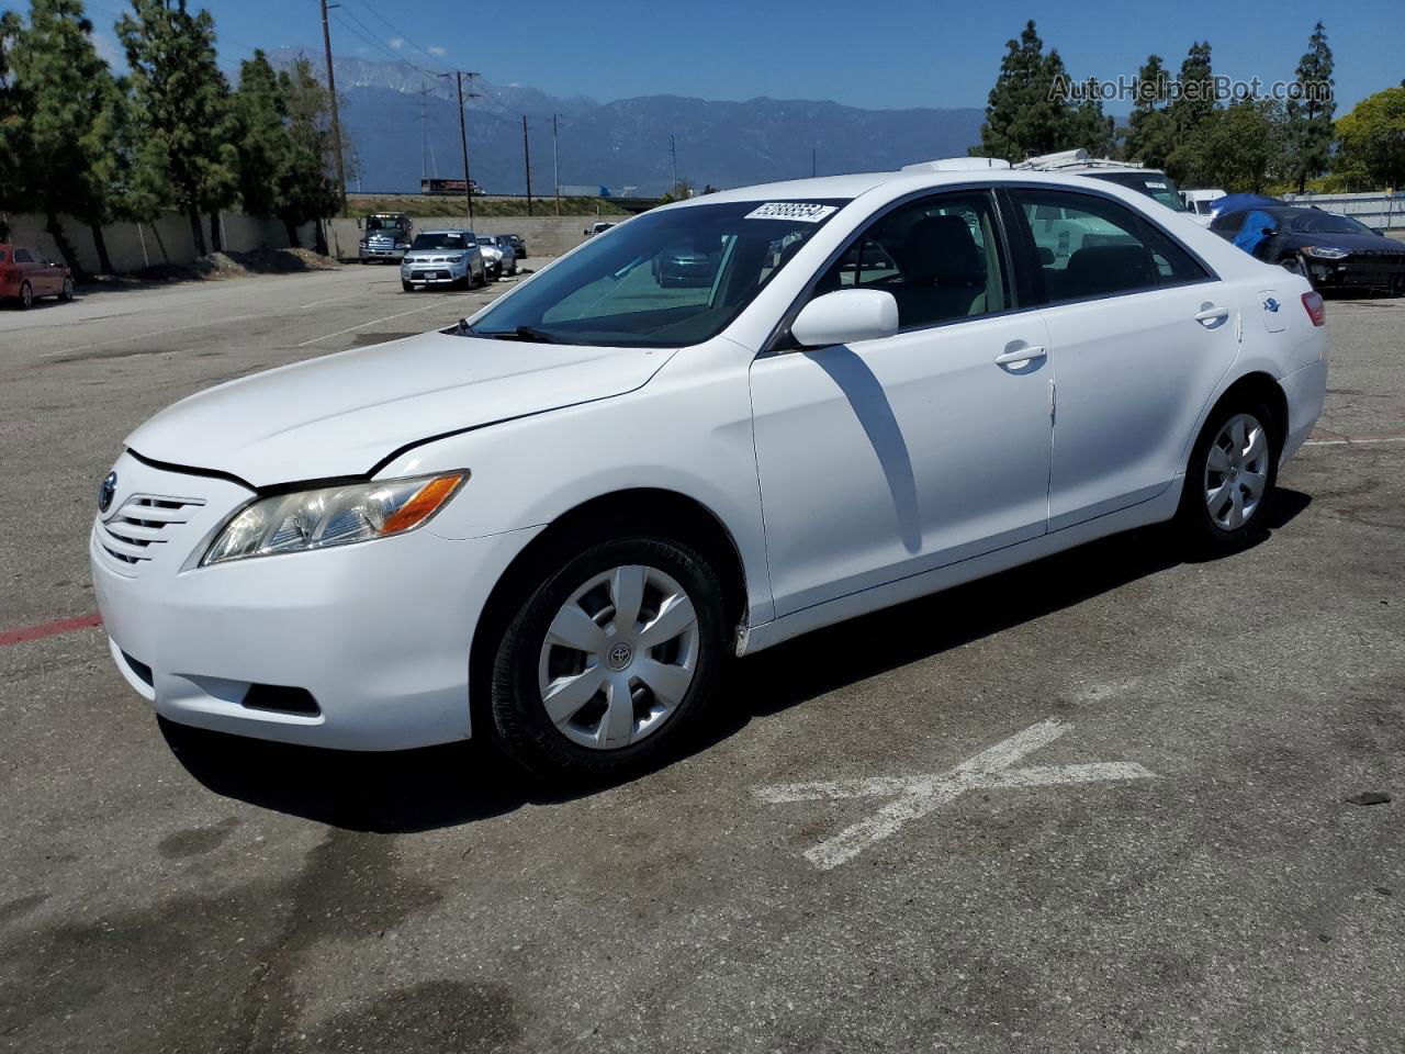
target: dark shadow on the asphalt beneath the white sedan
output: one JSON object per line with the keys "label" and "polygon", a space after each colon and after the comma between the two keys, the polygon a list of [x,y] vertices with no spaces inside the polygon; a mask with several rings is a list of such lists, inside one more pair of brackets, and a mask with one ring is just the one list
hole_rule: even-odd
{"label": "dark shadow on the asphalt beneath the white sedan", "polygon": [[[1279,488],[1270,530],[1311,503]],[[160,721],[176,759],[215,794],[348,831],[409,833],[471,824],[527,804],[555,804],[639,779],[701,753],[753,717],[991,637],[1183,562],[1165,527],[1113,535],[992,578],[806,634],[732,663],[731,701],[697,735],[624,780],[558,786],[488,743],[361,753],[289,746]]]}

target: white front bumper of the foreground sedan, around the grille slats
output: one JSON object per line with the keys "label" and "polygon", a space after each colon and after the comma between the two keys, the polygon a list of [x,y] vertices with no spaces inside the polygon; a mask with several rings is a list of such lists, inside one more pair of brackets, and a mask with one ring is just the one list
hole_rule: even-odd
{"label": "white front bumper of the foreground sedan, around the grille slats", "polygon": [[[420,528],[200,568],[215,531],[253,493],[129,454],[115,471],[117,500],[93,526],[93,582],[112,658],[156,713],[221,732],[354,750],[469,735],[468,655],[478,613],[535,531],[447,541]],[[108,526],[132,495],[201,505],[190,506],[197,512],[166,541],[148,545],[150,558],[126,564],[110,552]],[[302,689],[316,713],[246,705],[253,686]]]}

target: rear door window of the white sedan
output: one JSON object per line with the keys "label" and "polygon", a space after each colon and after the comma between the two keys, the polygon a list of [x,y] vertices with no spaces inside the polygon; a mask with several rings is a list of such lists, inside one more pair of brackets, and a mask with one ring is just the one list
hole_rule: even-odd
{"label": "rear door window of the white sedan", "polygon": [[1012,197],[1034,242],[1045,302],[1211,278],[1169,235],[1116,201],[1052,190],[1014,190]]}

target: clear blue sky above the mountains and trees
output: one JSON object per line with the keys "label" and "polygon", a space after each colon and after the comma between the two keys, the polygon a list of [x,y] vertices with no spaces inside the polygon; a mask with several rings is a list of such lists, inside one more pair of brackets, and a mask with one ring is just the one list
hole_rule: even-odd
{"label": "clear blue sky above the mountains and trees", "polygon": [[[200,0],[191,0],[200,6]],[[319,49],[316,0],[207,0],[230,66],[253,46]],[[0,7],[27,7],[0,1]],[[115,48],[124,0],[89,3]],[[1401,0],[1349,6],[1276,0],[1208,3],[936,3],[769,0],[708,4],[531,0],[341,0],[339,53],[461,67],[489,80],[599,101],[643,94],[743,100],[832,98],[850,105],[985,105],[1005,42],[1038,22],[1078,77],[1134,76],[1151,52],[1172,69],[1194,39],[1218,73],[1290,79],[1322,18],[1336,55],[1338,112],[1405,77]],[[423,51],[422,51],[423,49]],[[1125,111],[1125,105],[1110,105]]]}

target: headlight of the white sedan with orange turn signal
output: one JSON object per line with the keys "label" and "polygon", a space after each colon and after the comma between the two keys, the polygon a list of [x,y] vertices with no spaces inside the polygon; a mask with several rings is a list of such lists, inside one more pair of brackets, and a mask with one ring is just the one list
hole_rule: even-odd
{"label": "headlight of the white sedan with orange turn signal", "polygon": [[201,566],[277,552],[325,549],[385,538],[437,513],[468,472],[327,486],[246,505],[215,538]]}

